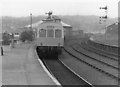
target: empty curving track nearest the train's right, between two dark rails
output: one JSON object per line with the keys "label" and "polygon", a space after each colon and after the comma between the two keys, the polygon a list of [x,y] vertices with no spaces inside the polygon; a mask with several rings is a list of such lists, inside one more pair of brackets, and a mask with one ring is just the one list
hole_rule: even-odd
{"label": "empty curving track nearest the train's right, between two dark rails", "polygon": [[[69,51],[68,51],[69,50]],[[79,60],[81,60],[82,62],[86,63],[87,65],[91,66],[92,68],[100,71],[100,72],[103,72],[104,74],[112,77],[112,78],[115,78],[116,80],[118,80],[118,71],[115,70],[115,69],[112,69],[108,66],[105,66],[105,65],[102,65],[101,63],[99,62],[96,62],[90,58],[88,58],[88,56],[86,57],[85,55],[81,55],[79,53],[77,53],[76,51],[74,51],[73,49],[69,48],[66,50],[70,55],[78,58]],[[74,55],[73,55],[74,53]]]}

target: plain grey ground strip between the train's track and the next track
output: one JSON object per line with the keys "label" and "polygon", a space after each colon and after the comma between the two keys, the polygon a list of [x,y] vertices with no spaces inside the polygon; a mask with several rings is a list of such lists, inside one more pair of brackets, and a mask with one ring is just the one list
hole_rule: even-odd
{"label": "plain grey ground strip between the train's track and the next track", "polygon": [[86,79],[93,85],[116,85],[118,82],[109,76],[99,72],[98,70],[88,66],[82,61],[69,55],[66,51],[59,57],[68,67],[70,67],[75,73]]}

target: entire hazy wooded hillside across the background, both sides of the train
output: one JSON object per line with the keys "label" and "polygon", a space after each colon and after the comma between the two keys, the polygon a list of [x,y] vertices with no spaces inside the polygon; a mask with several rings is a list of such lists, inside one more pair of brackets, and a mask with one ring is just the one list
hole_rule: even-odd
{"label": "entire hazy wooded hillside across the background, both sides of the train", "polygon": [[[98,16],[59,16],[63,22],[72,25],[73,30],[84,30],[84,32],[99,32],[103,29],[104,24],[99,24]],[[33,16],[33,23],[44,19],[45,16]],[[116,19],[108,19],[107,24],[112,24]],[[30,24],[30,17],[2,17],[2,28],[6,31],[20,29]]]}

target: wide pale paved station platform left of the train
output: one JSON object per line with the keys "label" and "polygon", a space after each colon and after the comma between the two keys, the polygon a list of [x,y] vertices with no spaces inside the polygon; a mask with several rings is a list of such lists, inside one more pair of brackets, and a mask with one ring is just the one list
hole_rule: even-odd
{"label": "wide pale paved station platform left of the train", "polygon": [[33,44],[4,47],[2,85],[56,85],[38,61]]}

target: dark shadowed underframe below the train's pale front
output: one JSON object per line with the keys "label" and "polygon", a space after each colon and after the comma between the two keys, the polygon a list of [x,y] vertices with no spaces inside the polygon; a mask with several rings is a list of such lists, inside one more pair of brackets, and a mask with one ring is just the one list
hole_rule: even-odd
{"label": "dark shadowed underframe below the train's pale front", "polygon": [[62,54],[61,46],[38,46],[37,49],[41,57],[48,59],[56,59],[59,55]]}

